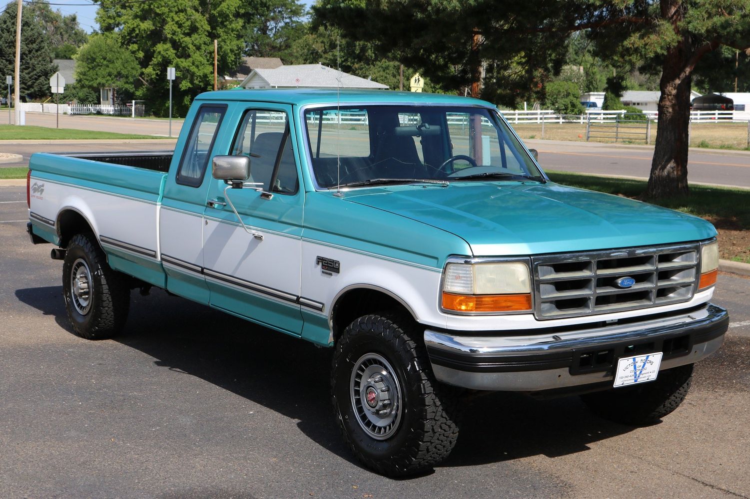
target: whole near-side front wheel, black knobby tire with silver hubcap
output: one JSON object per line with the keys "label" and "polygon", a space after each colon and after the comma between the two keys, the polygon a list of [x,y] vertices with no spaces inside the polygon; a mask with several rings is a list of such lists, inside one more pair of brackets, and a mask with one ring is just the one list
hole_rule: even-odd
{"label": "whole near-side front wheel, black knobby tire with silver hubcap", "polygon": [[336,420],[357,459],[380,474],[429,470],[458,439],[456,390],[435,381],[418,335],[409,318],[365,315],[336,346]]}

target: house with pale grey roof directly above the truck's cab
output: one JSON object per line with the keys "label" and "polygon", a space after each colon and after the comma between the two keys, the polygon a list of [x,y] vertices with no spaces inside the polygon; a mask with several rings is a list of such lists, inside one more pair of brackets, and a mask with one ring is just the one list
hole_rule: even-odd
{"label": "house with pale grey roof directly above the truck's cab", "polygon": [[[341,83],[339,83],[341,76]],[[388,85],[339,72],[323,64],[291,64],[273,69],[257,68],[242,80],[244,88],[374,88],[387,89]]]}

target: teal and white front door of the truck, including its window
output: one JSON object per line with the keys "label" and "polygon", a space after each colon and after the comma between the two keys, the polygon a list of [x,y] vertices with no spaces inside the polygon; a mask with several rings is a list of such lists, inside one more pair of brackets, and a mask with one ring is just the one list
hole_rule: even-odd
{"label": "teal and white front door of the truck, including its window", "polygon": [[211,306],[299,336],[304,193],[290,112],[264,104],[242,115],[230,154],[250,157],[251,178],[243,189],[210,180],[203,272]]}

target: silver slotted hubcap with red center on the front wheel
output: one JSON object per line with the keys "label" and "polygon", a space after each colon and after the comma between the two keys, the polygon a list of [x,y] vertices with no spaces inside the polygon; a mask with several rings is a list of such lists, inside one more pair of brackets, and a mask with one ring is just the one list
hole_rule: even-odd
{"label": "silver slotted hubcap with red center on the front wheel", "polygon": [[391,437],[401,423],[401,387],[388,360],[378,354],[359,357],[350,387],[359,426],[376,440]]}

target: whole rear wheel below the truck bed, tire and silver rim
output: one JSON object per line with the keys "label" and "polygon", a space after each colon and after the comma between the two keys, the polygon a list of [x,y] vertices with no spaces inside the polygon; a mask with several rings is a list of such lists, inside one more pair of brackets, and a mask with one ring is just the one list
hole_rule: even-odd
{"label": "whole rear wheel below the truck bed, tire and silver rim", "polygon": [[130,309],[130,288],[126,276],[107,264],[107,255],[93,234],[74,235],[68,243],[62,290],[78,336],[106,339],[121,332]]}

